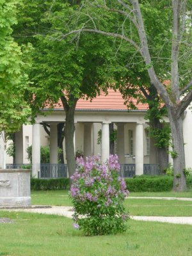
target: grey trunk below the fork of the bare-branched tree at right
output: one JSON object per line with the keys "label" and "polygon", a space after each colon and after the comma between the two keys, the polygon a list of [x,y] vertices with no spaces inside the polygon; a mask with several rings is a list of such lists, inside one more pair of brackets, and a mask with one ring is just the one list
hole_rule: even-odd
{"label": "grey trunk below the fork of the bare-branched tree at right", "polygon": [[173,157],[173,190],[185,191],[186,175],[185,169],[185,152],[184,152],[184,139],[183,139],[183,126],[182,116],[177,115],[177,110],[168,108],[168,116],[170,119],[170,127],[172,130],[172,157]]}

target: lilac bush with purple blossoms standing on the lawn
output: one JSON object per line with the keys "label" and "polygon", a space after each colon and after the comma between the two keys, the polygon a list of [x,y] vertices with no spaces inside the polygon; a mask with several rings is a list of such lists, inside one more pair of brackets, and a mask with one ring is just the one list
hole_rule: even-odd
{"label": "lilac bush with purple blossoms standing on the lawn", "polygon": [[77,158],[77,169],[70,177],[70,196],[74,204],[74,227],[86,236],[116,234],[127,228],[128,214],[123,201],[129,191],[120,177],[118,156],[99,164],[98,156]]}

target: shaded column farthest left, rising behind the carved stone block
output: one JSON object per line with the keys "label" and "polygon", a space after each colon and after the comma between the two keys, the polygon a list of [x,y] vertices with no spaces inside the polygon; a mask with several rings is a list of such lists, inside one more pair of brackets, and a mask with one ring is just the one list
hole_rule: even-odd
{"label": "shaded column farthest left, rising behind the carved stone block", "polygon": [[15,132],[15,164],[24,163],[24,154],[23,154],[23,132],[22,127],[20,131]]}

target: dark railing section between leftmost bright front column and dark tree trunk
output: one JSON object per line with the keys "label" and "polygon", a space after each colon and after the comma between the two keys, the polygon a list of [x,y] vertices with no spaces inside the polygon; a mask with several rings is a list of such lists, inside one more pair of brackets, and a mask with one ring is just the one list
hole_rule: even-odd
{"label": "dark railing section between leftmost bright front column and dark tree trunk", "polygon": [[40,164],[38,178],[67,177],[67,164]]}

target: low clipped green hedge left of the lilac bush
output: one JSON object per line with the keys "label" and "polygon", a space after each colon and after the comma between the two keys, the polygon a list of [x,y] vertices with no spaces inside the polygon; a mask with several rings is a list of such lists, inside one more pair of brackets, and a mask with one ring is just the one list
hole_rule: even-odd
{"label": "low clipped green hedge left of the lilac bush", "polygon": [[67,189],[68,179],[35,179],[31,178],[31,189],[32,190],[61,190]]}

